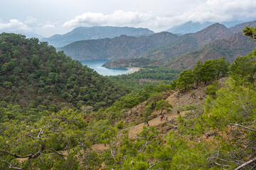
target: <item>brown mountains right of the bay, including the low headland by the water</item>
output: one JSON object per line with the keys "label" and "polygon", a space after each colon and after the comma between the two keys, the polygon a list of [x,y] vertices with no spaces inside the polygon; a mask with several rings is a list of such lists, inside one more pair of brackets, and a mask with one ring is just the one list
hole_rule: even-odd
{"label": "brown mountains right of the bay, including the low headland by the water", "polygon": [[[250,26],[256,25],[256,21],[249,23]],[[249,23],[241,23],[232,28],[215,23],[197,33],[183,35],[169,44],[147,50],[137,57],[151,59],[151,65],[174,69],[191,68],[199,60],[203,62],[218,57],[226,57],[228,61],[233,62],[235,57],[246,55],[255,47],[255,43],[250,41],[250,38],[242,35],[241,29]],[[132,63],[132,60],[121,59],[107,62],[105,67],[130,67],[131,65],[137,66]]]}

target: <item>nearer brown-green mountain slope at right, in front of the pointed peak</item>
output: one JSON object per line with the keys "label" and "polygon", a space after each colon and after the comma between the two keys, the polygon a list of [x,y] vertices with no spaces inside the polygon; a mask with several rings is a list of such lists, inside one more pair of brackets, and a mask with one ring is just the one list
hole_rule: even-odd
{"label": "nearer brown-green mountain slope at right, in front of the pointed peak", "polygon": [[173,69],[192,69],[196,62],[215,60],[225,57],[228,62],[234,62],[236,57],[245,56],[255,48],[255,43],[242,33],[235,33],[229,38],[215,40],[197,50],[187,52],[180,57],[166,62],[166,67]]}

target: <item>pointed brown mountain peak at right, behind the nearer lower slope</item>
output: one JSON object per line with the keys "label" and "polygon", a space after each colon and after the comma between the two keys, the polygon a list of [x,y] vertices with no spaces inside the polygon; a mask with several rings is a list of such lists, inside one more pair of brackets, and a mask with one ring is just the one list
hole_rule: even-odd
{"label": "pointed brown mountain peak at right, behind the nearer lower slope", "polygon": [[183,55],[191,50],[196,50],[213,40],[228,38],[232,33],[228,28],[220,23],[215,23],[197,33],[183,35],[175,42],[162,47],[144,52],[140,57],[149,57],[151,59],[166,59]]}

